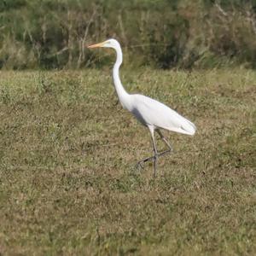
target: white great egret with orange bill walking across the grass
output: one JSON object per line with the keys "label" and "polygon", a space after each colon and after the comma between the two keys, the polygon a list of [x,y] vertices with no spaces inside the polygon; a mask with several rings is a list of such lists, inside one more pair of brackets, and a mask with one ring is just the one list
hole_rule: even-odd
{"label": "white great egret with orange bill walking across the grass", "polygon": [[[123,61],[123,54],[120,44],[117,40],[111,38],[100,44],[93,44],[88,48],[107,47],[113,48],[116,51],[117,58],[113,66],[113,84],[119,102],[123,108],[127,109],[145,126],[148,127],[152,138],[154,155],[146,159],[140,160],[137,166],[142,166],[143,163],[148,160],[154,160],[154,176],[156,174],[156,162],[159,156],[164,155],[172,151],[171,145],[167,142],[166,138],[162,135],[160,129],[166,129],[168,131],[176,131],[183,134],[194,135],[196,127],[188,119],[178,114],[176,111],[167,107],[165,104],[158,102],[148,96],[140,94],[129,94],[126,92],[119,79],[119,67]],[[167,150],[158,153],[154,142],[154,131],[160,135],[160,138],[166,143]]]}

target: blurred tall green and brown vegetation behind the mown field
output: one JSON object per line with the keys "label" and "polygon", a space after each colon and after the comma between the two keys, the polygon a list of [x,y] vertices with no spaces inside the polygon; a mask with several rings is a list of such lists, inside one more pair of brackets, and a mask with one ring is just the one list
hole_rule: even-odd
{"label": "blurred tall green and brown vegetation behind the mown field", "polygon": [[85,46],[106,38],[135,67],[254,68],[256,0],[0,1],[3,69],[104,65]]}

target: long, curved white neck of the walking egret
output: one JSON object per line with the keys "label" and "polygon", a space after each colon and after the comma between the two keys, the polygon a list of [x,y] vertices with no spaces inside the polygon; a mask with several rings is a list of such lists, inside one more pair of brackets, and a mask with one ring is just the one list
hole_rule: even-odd
{"label": "long, curved white neck of the walking egret", "polygon": [[116,51],[117,57],[113,66],[113,84],[119,97],[119,102],[121,103],[123,108],[129,109],[130,95],[126,92],[119,78],[119,67],[123,62],[123,54],[120,46],[114,49]]}

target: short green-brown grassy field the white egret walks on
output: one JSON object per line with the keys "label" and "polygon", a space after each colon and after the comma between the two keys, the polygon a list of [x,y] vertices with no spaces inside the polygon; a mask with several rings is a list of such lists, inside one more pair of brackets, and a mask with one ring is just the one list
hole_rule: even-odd
{"label": "short green-brown grassy field the white egret walks on", "polygon": [[255,255],[256,72],[122,80],[198,128],[165,133],[174,153],[156,178],[134,168],[149,133],[108,69],[0,73],[0,254]]}

